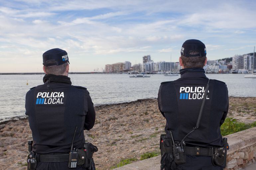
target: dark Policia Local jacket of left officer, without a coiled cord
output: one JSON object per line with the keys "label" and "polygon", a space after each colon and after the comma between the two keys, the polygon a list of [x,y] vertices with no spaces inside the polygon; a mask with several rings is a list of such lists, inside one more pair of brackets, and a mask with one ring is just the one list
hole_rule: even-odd
{"label": "dark Policia Local jacket of left officer, without a coiled cord", "polygon": [[95,123],[95,111],[85,87],[71,85],[67,76],[45,75],[44,84],[26,94],[26,115],[39,154],[69,153],[75,126],[74,147],[82,148],[83,130]]}

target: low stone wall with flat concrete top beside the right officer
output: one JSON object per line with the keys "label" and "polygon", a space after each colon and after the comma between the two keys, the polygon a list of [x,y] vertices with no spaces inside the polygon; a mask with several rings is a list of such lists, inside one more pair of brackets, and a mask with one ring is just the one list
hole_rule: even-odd
{"label": "low stone wall with flat concrete top beside the right officer", "polygon": [[[230,149],[227,152],[227,168],[238,170],[255,163],[256,127],[225,136]],[[137,161],[114,170],[160,170],[161,156]]]}

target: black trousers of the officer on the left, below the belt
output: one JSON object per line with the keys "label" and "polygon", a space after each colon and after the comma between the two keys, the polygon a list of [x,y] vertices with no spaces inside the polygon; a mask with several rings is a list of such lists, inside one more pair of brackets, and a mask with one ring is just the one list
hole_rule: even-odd
{"label": "black trousers of the officer on the left, below the belt", "polygon": [[[37,162],[37,170],[72,170],[67,166],[68,162]],[[86,170],[86,168],[77,166],[73,170]]]}

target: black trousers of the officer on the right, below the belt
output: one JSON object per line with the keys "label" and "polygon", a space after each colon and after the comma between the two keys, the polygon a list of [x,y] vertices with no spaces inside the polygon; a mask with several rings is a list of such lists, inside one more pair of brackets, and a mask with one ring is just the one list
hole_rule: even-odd
{"label": "black trousers of the officer on the right, below the belt", "polygon": [[177,170],[223,170],[223,167],[213,166],[210,156],[187,155],[187,162],[177,165]]}

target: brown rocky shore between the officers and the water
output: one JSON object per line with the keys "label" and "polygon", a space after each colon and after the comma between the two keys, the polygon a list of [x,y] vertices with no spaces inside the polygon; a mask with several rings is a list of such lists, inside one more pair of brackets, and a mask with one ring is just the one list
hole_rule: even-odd
{"label": "brown rocky shore between the officers and the water", "polygon": [[[120,160],[140,159],[146,152],[159,152],[159,136],[165,119],[156,99],[96,106],[96,122],[84,131],[85,140],[98,146],[97,170],[108,170]],[[256,121],[256,97],[229,97],[229,117]],[[27,119],[0,123],[0,170],[26,170],[27,140],[32,139]]]}

